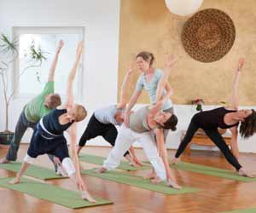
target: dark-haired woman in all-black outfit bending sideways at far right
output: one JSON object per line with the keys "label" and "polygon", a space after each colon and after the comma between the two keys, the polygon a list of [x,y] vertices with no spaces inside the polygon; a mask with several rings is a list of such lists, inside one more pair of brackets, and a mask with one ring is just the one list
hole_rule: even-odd
{"label": "dark-haired woman in all-black outfit bending sideways at far right", "polygon": [[[239,150],[237,146],[238,124],[241,122],[241,136],[247,138],[252,136],[256,131],[256,113],[251,110],[238,110],[237,88],[241,75],[241,68],[244,64],[243,58],[238,61],[238,66],[235,72],[235,80],[233,83],[232,95],[229,107],[219,107],[213,110],[199,112],[191,119],[189,129],[180,143],[175,158],[172,159],[172,164],[177,164],[178,158],[183,153],[189,142],[195,135],[196,130],[201,128],[214,144],[224,154],[227,161],[232,164],[240,176],[251,176],[243,170],[237,158],[239,158]],[[230,129],[231,149],[226,145],[223,137],[218,133],[218,128]]]}

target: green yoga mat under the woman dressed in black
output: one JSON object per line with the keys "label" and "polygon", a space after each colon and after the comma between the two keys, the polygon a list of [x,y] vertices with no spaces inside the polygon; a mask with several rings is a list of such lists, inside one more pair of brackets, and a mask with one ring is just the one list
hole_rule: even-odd
{"label": "green yoga mat under the woman dressed in black", "polygon": [[[143,163],[149,164],[149,162],[143,162]],[[190,164],[190,163],[180,161],[175,165],[171,164],[170,167],[172,169],[191,171],[195,173],[204,174],[207,176],[218,176],[218,177],[223,177],[223,178],[227,178],[235,181],[246,181],[246,182],[256,181],[256,177],[251,178],[246,176],[239,176],[235,171],[232,171],[232,170],[224,170],[224,169],[219,169],[216,167],[205,166],[200,164]]]}

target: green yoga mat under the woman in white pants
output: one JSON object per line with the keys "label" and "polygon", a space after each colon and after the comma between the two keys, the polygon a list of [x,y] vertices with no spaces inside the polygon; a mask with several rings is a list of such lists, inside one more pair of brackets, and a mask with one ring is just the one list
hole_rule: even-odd
{"label": "green yoga mat under the woman in white pants", "polygon": [[198,192],[198,189],[192,187],[183,187],[181,190],[174,189],[172,187],[167,187],[165,182],[159,184],[153,184],[150,180],[144,180],[141,176],[133,176],[131,174],[125,174],[124,172],[119,171],[107,171],[105,173],[99,174],[96,173],[96,170],[82,170],[82,174],[88,176],[96,176],[102,179],[109,181],[115,181],[119,183],[124,183],[131,185],[133,187],[139,187],[148,189],[150,191],[166,194],[181,194],[181,193],[195,193]]}

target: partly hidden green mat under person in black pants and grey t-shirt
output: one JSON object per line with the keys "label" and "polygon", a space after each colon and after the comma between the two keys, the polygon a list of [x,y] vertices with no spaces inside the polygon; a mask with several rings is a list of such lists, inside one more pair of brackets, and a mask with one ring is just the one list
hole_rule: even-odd
{"label": "partly hidden green mat under person in black pants and grey t-shirt", "polygon": [[[96,155],[90,155],[90,154],[81,154],[79,156],[79,159],[81,161],[90,163],[90,164],[98,164],[98,165],[102,165],[103,161],[106,159],[102,156],[96,156]],[[131,166],[128,162],[125,161],[121,161],[121,164],[119,165],[119,167],[117,169],[119,170],[150,170],[150,166],[149,165],[143,165],[141,167],[135,167],[135,166]]]}

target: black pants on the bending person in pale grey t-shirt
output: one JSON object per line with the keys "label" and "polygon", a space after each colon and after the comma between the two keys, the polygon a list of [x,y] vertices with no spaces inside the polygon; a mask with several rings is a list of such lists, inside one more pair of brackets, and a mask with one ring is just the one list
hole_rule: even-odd
{"label": "black pants on the bending person in pale grey t-shirt", "polygon": [[[113,124],[102,124],[93,114],[90,117],[89,123],[80,138],[79,147],[84,147],[86,141],[95,138],[96,136],[102,136],[106,141],[108,141],[108,143],[112,145],[112,147],[114,147],[117,135],[118,131]],[[127,154],[129,154],[128,151],[124,154],[124,156]]]}

